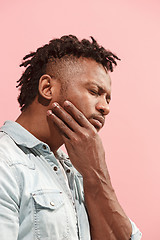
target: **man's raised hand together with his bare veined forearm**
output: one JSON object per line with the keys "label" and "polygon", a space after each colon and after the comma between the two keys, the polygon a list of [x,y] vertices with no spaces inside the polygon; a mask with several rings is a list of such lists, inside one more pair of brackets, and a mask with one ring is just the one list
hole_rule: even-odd
{"label": "man's raised hand together with his bare veined forearm", "polygon": [[72,103],[53,104],[48,116],[59,128],[74,167],[82,174],[92,240],[129,240],[131,224],[113,190],[96,128]]}

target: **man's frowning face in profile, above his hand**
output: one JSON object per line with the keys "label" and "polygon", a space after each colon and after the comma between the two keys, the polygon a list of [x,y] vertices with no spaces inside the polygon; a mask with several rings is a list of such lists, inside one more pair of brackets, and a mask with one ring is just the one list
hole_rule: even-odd
{"label": "man's frowning face in profile, above his hand", "polygon": [[[81,60],[80,60],[81,61]],[[104,67],[93,60],[83,59],[78,67],[72,68],[70,79],[61,91],[61,104],[72,102],[99,131],[109,113],[111,79]]]}

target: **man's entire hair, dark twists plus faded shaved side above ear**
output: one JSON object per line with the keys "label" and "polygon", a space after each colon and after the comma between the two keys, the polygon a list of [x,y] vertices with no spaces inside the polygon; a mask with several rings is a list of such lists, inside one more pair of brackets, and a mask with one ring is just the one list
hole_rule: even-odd
{"label": "man's entire hair, dark twists plus faded shaved side above ear", "polygon": [[[26,67],[18,81],[20,95],[18,98],[21,110],[25,110],[39,95],[39,81],[45,75],[61,81],[62,89],[71,84],[70,77],[81,73],[81,59],[93,60],[105,70],[113,71],[118,57],[99,46],[91,37],[92,42],[75,36],[63,36],[53,39],[45,46],[37,49],[23,58],[20,66]],[[84,62],[83,62],[84,63]],[[82,64],[84,65],[84,64]],[[75,80],[75,79],[74,79]],[[66,84],[67,83],[67,84]]]}

